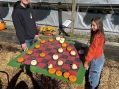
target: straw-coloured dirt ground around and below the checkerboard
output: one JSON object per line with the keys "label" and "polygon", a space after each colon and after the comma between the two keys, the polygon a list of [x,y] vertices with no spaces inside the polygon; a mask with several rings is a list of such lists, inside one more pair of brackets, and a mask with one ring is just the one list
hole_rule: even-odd
{"label": "straw-coloured dirt ground around and below the checkerboard", "polygon": [[[0,33],[0,89],[85,89],[85,80],[79,86],[37,74],[29,75],[23,70],[8,66],[10,59],[21,53],[21,47],[14,32],[12,36],[5,33],[6,37],[3,33]],[[119,89],[119,45],[115,44],[107,43],[105,46],[106,62],[98,89]]]}

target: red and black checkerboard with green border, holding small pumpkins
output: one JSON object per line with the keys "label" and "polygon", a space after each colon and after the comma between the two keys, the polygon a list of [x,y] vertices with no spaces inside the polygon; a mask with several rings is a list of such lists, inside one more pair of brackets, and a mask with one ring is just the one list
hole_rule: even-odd
{"label": "red and black checkerboard with green border, holding small pumpkins", "polygon": [[[53,41],[51,42],[49,39],[53,39]],[[45,42],[42,43],[41,41],[38,41],[29,49],[32,51],[32,53],[28,53],[28,51],[21,53],[16,58],[13,58],[8,63],[8,65],[18,68],[21,65],[30,65],[31,72],[40,73],[53,78],[61,79],[63,81],[71,82],[68,78],[64,78],[63,76],[63,73],[68,72],[70,75],[76,76],[76,81],[73,83],[82,84],[85,75],[85,69],[83,67],[82,61],[80,60],[81,55],[77,52],[74,42],[67,39],[64,41],[64,43],[67,44],[67,47],[70,46],[72,50],[76,52],[75,56],[71,55],[70,52],[67,51],[67,47],[62,47],[62,43],[56,40],[56,37],[42,37],[41,40],[45,40]],[[36,45],[40,46],[36,48]],[[62,53],[58,52],[59,48],[63,49]],[[39,56],[40,53],[45,53],[45,56]],[[58,55],[57,60],[53,59],[54,54]],[[24,61],[18,62],[18,59],[21,57],[24,59]],[[31,64],[33,60],[37,62],[35,65]],[[63,61],[63,64],[58,65],[58,60]],[[57,76],[56,73],[49,73],[49,64],[52,64],[56,71],[61,71],[62,75]],[[76,64],[77,68],[72,69],[72,64]]]}

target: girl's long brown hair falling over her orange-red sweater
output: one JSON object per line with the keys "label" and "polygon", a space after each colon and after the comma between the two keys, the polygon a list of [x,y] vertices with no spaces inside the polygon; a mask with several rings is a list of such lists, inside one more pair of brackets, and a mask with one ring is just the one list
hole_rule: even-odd
{"label": "girl's long brown hair falling over her orange-red sweater", "polygon": [[102,34],[104,37],[104,29],[103,29],[103,22],[102,22],[102,18],[101,17],[95,17],[91,20],[91,23],[92,22],[95,22],[96,25],[97,25],[97,30],[96,31],[93,31],[91,30],[91,37],[90,37],[90,43],[92,43],[93,41],[93,38],[96,34]]}

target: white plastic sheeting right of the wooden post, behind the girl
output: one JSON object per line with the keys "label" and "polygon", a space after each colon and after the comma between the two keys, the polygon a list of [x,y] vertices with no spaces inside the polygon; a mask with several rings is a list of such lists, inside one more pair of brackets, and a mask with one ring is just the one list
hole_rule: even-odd
{"label": "white plastic sheeting right of the wooden post, behind the girl", "polygon": [[104,30],[110,32],[119,32],[119,15],[112,14],[91,14],[78,13],[76,27],[80,29],[89,29],[90,21],[93,17],[100,16],[103,20]]}

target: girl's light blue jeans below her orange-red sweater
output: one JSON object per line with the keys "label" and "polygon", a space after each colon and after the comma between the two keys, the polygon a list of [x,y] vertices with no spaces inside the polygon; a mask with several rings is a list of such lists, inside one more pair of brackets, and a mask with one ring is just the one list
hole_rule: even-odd
{"label": "girl's light blue jeans below her orange-red sweater", "polygon": [[91,89],[95,89],[100,80],[100,74],[103,68],[105,62],[105,57],[102,55],[98,59],[93,59],[90,63],[90,69],[89,69],[89,82],[91,85]]}

